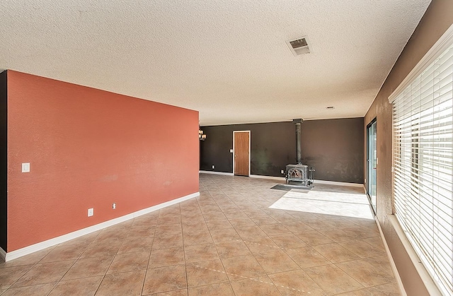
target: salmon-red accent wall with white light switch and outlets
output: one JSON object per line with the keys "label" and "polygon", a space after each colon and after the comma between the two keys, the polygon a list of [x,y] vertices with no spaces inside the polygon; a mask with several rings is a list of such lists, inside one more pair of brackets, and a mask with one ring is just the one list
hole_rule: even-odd
{"label": "salmon-red accent wall with white light switch and outlets", "polygon": [[7,79],[6,251],[198,191],[198,112],[16,71]]}

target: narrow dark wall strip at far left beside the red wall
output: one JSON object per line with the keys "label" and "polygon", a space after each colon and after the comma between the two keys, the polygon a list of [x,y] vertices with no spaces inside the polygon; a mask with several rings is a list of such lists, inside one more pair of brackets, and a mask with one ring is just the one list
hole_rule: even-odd
{"label": "narrow dark wall strip at far left beside the red wall", "polygon": [[7,162],[7,85],[6,71],[0,73],[0,247],[6,251],[7,230],[7,196],[6,180],[8,162]]}

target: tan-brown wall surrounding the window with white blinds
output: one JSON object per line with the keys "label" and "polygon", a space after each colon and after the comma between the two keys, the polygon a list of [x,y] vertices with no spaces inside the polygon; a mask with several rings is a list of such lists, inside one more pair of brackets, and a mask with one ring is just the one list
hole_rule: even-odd
{"label": "tan-brown wall surrounding the window with white blinds", "polygon": [[377,166],[377,218],[387,244],[389,244],[404,288],[411,296],[429,295],[429,293],[415,271],[415,267],[411,264],[390,221],[384,219],[386,215],[394,213],[391,193],[392,121],[388,97],[452,23],[453,0],[433,0],[365,115],[365,135],[367,124],[377,118],[377,158],[379,161]]}

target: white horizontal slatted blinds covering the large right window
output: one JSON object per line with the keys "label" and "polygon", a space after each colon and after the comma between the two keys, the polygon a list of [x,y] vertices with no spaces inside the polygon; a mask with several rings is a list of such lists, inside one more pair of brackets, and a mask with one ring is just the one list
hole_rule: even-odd
{"label": "white horizontal slatted blinds covering the large right window", "polygon": [[452,93],[450,46],[393,101],[396,218],[445,295],[453,295]]}

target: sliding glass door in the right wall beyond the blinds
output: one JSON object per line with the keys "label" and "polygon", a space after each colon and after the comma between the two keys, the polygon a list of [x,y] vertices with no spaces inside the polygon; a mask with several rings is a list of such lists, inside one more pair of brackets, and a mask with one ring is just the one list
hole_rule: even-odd
{"label": "sliding glass door in the right wall beyond the blinds", "polygon": [[367,126],[367,194],[374,213],[376,213],[376,150],[377,124],[376,119]]}

